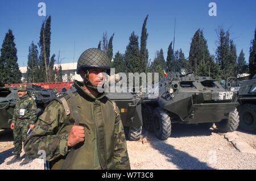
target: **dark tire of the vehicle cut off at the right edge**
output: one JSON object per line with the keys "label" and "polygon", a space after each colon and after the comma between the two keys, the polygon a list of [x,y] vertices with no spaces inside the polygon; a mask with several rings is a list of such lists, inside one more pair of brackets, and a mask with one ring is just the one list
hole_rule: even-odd
{"label": "dark tire of the vehicle cut off at the right edge", "polygon": [[256,105],[243,104],[239,108],[240,127],[247,132],[256,132]]}

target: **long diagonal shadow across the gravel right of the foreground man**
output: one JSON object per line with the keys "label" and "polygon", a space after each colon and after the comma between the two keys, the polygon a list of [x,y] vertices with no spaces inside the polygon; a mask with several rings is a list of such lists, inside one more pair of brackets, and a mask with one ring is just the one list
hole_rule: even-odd
{"label": "long diagonal shadow across the gravel right of the foreground man", "polygon": [[153,148],[167,157],[167,161],[174,163],[181,170],[214,170],[205,162],[200,162],[199,159],[174,148],[174,146],[166,144],[156,138],[150,138],[148,141]]}

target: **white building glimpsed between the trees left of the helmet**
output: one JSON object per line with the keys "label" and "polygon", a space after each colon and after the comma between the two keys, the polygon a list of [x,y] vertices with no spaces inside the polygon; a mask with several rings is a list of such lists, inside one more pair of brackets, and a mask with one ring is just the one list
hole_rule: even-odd
{"label": "white building glimpsed between the trees left of the helmet", "polygon": [[[77,66],[77,63],[61,64],[63,82],[73,82],[75,79],[77,81],[82,81],[81,76],[79,74],[76,74],[76,66]],[[54,67],[58,68],[59,65],[55,64]],[[22,73],[22,82],[25,82],[27,67],[26,66],[20,67],[19,70]]]}

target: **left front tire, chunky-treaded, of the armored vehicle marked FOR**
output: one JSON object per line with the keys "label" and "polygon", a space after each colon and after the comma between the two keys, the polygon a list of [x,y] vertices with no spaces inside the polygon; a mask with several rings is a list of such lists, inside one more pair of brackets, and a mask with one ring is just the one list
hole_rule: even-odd
{"label": "left front tire, chunky-treaded, of the armored vehicle marked FOR", "polygon": [[157,107],[153,116],[154,132],[159,140],[167,140],[171,136],[171,118],[168,112]]}

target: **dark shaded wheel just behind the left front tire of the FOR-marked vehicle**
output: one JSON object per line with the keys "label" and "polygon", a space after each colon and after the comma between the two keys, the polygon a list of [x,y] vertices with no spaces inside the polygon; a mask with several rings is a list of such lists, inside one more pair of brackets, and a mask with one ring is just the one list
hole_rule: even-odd
{"label": "dark shaded wheel just behind the left front tire of the FOR-marked vehicle", "polygon": [[153,127],[152,127],[152,116],[154,113],[154,108],[151,106],[143,106],[142,107],[142,120],[143,120],[143,127],[147,130],[152,132]]}

